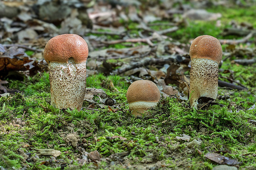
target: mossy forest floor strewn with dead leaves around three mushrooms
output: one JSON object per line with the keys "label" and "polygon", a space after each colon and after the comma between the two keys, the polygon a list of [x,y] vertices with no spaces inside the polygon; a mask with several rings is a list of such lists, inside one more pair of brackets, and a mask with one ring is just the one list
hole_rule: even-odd
{"label": "mossy forest floor strewn with dead leaves around three mushrooms", "polygon": [[[254,1],[86,2],[0,2],[17,11],[0,12],[0,170],[256,169]],[[65,18],[50,16],[60,6]],[[50,105],[43,49],[63,33],[89,46],[81,111]],[[195,110],[189,48],[204,34],[222,45],[219,80],[228,84]],[[126,92],[142,79],[156,83],[161,99],[134,117]]]}

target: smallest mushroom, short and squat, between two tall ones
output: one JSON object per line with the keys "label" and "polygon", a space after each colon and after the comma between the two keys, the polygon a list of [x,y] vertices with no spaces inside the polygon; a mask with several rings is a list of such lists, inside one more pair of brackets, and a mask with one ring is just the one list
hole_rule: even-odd
{"label": "smallest mushroom, short and squat, between two tall ones", "polygon": [[148,109],[154,108],[160,100],[160,92],[155,83],[149,80],[137,80],[127,90],[129,108],[135,116],[142,116]]}

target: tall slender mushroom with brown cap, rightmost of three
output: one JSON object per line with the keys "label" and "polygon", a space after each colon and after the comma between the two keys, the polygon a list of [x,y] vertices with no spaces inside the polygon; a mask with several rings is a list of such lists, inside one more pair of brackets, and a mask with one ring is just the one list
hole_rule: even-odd
{"label": "tall slender mushroom with brown cap, rightmost of three", "polygon": [[222,59],[220,42],[209,35],[197,37],[190,46],[190,58],[190,107],[197,109],[200,97],[208,101],[217,97],[218,65]]}

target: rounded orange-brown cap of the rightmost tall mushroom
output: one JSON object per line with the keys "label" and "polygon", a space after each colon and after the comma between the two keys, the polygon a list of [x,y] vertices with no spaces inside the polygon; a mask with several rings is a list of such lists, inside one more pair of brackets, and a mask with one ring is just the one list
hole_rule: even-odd
{"label": "rounded orange-brown cap of the rightmost tall mushroom", "polygon": [[203,58],[220,63],[222,48],[220,41],[210,35],[201,35],[192,41],[190,46],[190,58]]}

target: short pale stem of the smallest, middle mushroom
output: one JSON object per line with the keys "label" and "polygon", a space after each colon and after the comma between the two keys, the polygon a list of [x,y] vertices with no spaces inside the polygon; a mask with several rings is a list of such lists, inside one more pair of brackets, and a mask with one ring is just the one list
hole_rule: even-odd
{"label": "short pale stem of the smallest, middle mushroom", "polygon": [[142,116],[149,110],[150,108],[156,107],[156,102],[146,102],[146,101],[137,101],[133,103],[129,103],[129,108],[133,115]]}

